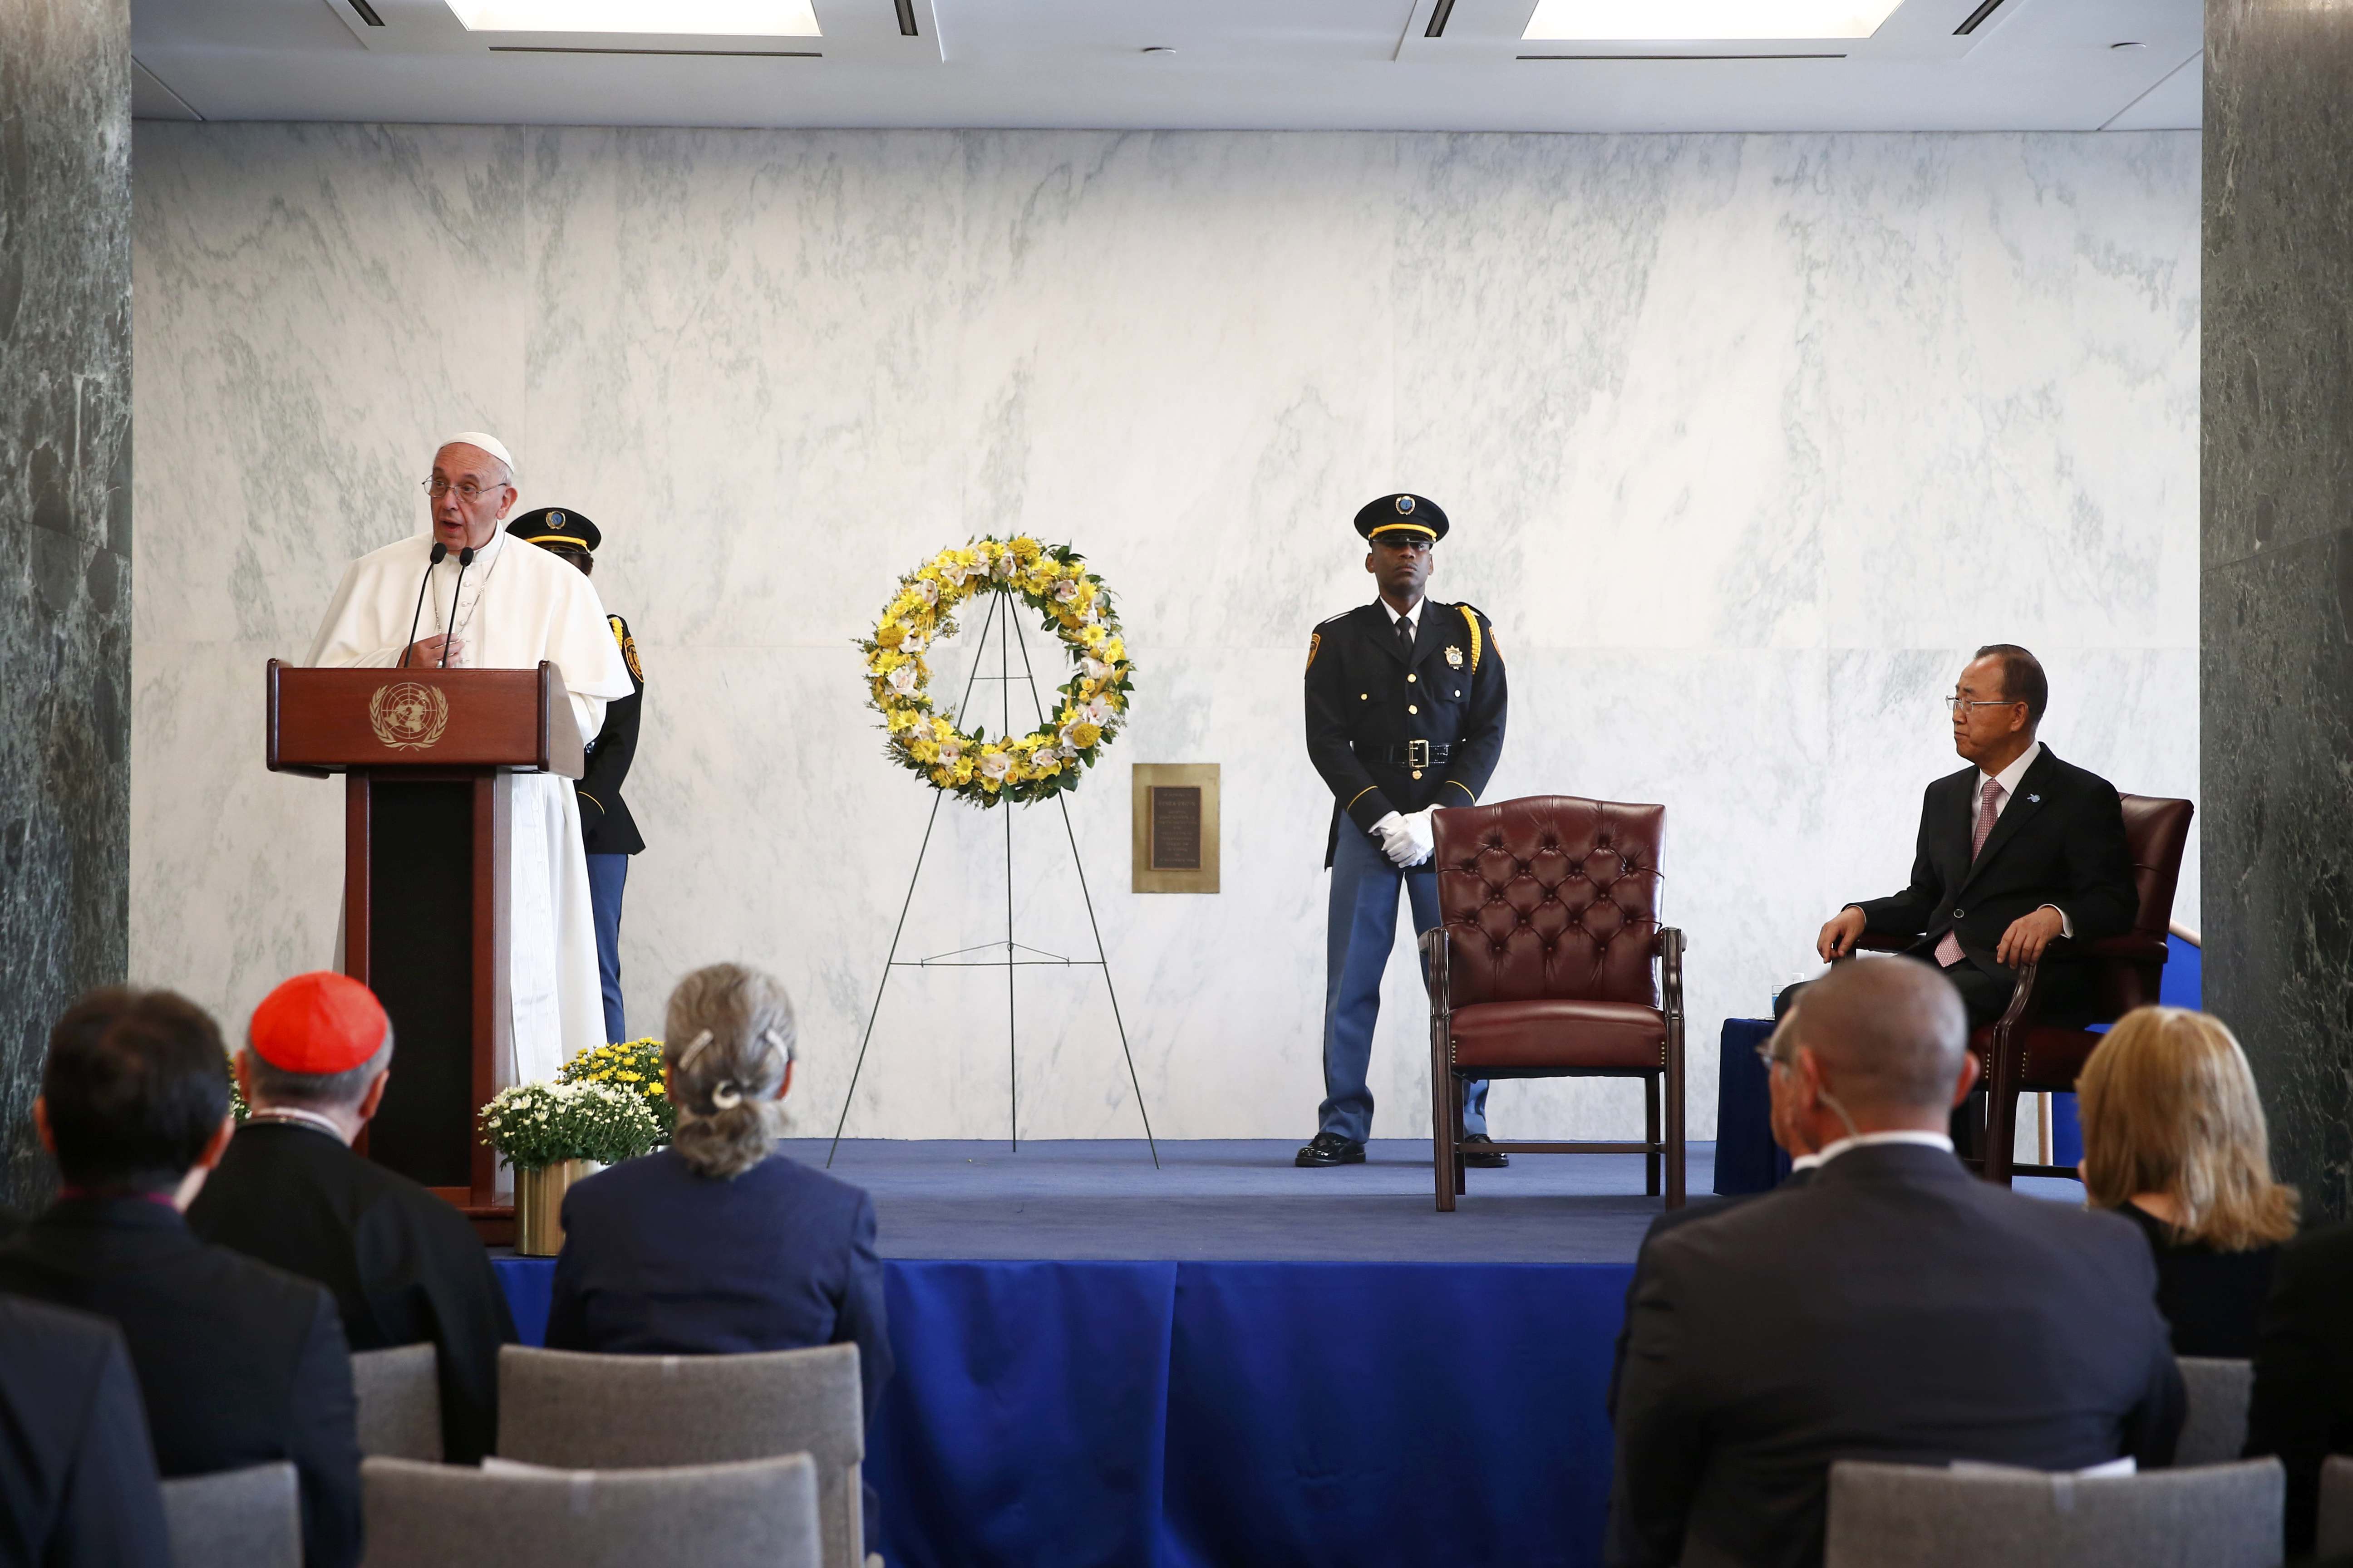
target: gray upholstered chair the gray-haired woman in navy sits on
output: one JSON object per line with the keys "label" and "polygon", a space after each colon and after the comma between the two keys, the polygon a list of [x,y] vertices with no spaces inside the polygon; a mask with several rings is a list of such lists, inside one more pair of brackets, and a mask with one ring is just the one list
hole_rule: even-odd
{"label": "gray upholstered chair the gray-haired woman in navy sits on", "polygon": [[816,1460],[826,1568],[859,1568],[866,1406],[859,1347],[746,1356],[499,1352],[499,1458],[572,1469]]}

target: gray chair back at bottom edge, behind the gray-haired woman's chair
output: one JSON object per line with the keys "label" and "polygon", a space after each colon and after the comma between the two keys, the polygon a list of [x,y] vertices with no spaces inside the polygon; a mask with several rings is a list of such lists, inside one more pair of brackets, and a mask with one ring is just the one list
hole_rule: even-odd
{"label": "gray chair back at bottom edge, behind the gray-haired woman's chair", "polygon": [[362,1460],[367,1568],[819,1568],[809,1455],[489,1472]]}

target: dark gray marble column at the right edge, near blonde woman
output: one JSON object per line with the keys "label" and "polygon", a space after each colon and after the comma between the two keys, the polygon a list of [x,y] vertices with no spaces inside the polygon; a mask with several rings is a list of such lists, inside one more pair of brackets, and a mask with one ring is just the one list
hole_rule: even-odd
{"label": "dark gray marble column at the right edge, near blonde woman", "polygon": [[2207,0],[2207,1006],[2353,1213],[2353,9]]}

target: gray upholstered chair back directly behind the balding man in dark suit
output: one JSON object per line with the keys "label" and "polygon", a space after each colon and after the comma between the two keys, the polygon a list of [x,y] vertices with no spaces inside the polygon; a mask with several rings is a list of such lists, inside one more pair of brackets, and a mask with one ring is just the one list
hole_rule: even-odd
{"label": "gray upholstered chair back directly behind the balding man in dark suit", "polygon": [[1824,1568],[2278,1568],[2278,1460],[2139,1476],[1831,1465]]}

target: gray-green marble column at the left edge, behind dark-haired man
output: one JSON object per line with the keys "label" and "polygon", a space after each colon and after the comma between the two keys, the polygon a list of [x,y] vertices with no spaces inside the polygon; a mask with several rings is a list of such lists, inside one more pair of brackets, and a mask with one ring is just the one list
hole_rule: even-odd
{"label": "gray-green marble column at the left edge, behind dark-haired man", "polygon": [[49,1023],[129,943],[127,0],[0,0],[0,1201]]}

